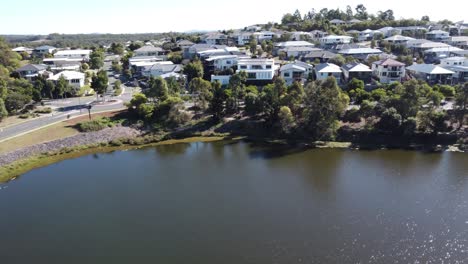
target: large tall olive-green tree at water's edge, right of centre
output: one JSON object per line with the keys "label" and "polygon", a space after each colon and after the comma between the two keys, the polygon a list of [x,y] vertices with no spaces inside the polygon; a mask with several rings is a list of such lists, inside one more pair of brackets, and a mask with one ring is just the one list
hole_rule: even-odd
{"label": "large tall olive-green tree at water's edge, right of centre", "polygon": [[306,87],[304,101],[305,128],[315,139],[331,139],[337,122],[346,109],[349,98],[341,92],[334,77],[312,82]]}

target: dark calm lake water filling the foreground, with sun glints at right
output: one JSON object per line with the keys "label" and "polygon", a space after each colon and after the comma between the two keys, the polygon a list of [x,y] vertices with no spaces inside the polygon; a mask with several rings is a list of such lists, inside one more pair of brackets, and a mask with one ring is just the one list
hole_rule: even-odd
{"label": "dark calm lake water filling the foreground, with sun glints at right", "polygon": [[468,263],[468,155],[191,143],[0,185],[0,263]]}

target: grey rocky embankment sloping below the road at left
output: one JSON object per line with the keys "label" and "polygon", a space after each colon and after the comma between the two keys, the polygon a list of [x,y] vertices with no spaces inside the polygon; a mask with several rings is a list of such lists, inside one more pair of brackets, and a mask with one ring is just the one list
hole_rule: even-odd
{"label": "grey rocky embankment sloping below the road at left", "polygon": [[141,132],[139,130],[124,126],[109,127],[96,132],[80,133],[75,136],[45,142],[1,154],[0,167],[11,164],[15,161],[29,158],[31,156],[43,153],[51,153],[64,148],[108,143],[112,140],[121,138],[134,138],[140,135]]}

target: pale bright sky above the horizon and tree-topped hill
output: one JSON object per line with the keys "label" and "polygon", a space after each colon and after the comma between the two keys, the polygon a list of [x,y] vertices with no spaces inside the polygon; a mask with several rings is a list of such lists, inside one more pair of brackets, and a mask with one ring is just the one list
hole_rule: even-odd
{"label": "pale bright sky above the horizon and tree-topped hill", "polygon": [[[465,0],[6,0],[0,34],[153,33],[236,29],[280,22],[285,13],[322,8],[369,13],[392,9],[395,18],[468,21]],[[459,6],[459,8],[456,8]]]}

